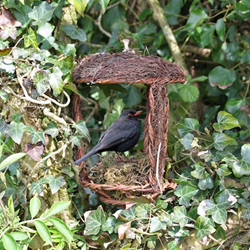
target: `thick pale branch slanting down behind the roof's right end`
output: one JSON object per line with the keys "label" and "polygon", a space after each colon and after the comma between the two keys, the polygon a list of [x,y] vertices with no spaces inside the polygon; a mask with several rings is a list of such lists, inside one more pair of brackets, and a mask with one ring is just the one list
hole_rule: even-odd
{"label": "thick pale branch slanting down behind the roof's right end", "polygon": [[171,50],[171,53],[173,55],[175,62],[182,65],[187,70],[187,66],[185,64],[185,61],[184,61],[182,55],[181,55],[181,50],[180,50],[178,43],[175,39],[173,31],[169,27],[168,21],[164,15],[164,10],[160,6],[158,0],[148,0],[148,3],[150,5],[151,10],[154,13],[154,19],[156,21],[158,21],[160,24],[160,27],[161,27],[163,34],[167,40],[168,46]]}

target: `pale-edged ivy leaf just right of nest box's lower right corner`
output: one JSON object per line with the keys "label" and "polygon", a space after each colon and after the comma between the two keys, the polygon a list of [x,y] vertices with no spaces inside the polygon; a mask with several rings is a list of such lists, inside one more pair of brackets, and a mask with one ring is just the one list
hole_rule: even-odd
{"label": "pale-edged ivy leaf just right of nest box's lower right corner", "polygon": [[189,206],[189,201],[196,195],[197,192],[197,188],[181,184],[175,189],[174,194],[180,197],[179,204],[187,207]]}

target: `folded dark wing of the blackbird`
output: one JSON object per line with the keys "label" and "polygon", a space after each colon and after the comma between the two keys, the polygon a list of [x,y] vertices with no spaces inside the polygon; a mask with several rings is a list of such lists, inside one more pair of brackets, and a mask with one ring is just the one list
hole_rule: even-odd
{"label": "folded dark wing of the blackbird", "polygon": [[[116,122],[114,121],[108,130],[102,135],[99,140],[101,148],[105,149],[115,147],[121,142],[125,142],[136,134],[137,126],[134,123]],[[99,148],[99,147],[98,147]]]}

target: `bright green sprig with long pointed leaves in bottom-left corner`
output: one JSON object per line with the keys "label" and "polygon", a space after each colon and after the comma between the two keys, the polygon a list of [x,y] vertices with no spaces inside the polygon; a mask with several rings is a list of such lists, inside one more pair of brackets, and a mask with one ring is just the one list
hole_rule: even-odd
{"label": "bright green sprig with long pointed leaves in bottom-left corner", "polygon": [[8,206],[0,210],[0,248],[2,243],[6,250],[26,249],[37,235],[43,240],[43,245],[58,248],[66,241],[70,246],[74,241],[74,228],[70,229],[61,219],[52,217],[67,209],[69,205],[70,202],[59,201],[45,214],[38,216],[41,202],[37,196],[34,196],[29,204],[31,219],[21,221],[10,197]]}

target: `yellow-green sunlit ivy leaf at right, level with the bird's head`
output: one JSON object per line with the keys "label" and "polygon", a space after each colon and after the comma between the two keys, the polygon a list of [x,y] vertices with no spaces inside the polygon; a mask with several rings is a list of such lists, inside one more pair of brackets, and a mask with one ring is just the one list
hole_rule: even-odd
{"label": "yellow-green sunlit ivy leaf at right, level with the bird's head", "polygon": [[220,111],[217,115],[217,123],[213,124],[213,128],[218,132],[235,127],[240,127],[238,120],[226,111]]}

